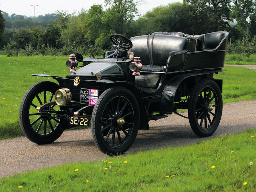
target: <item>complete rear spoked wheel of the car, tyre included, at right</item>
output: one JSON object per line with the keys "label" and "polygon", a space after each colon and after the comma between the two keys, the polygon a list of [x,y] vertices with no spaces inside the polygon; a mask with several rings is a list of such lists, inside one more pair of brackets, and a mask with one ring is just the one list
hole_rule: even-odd
{"label": "complete rear spoked wheel of the car, tyre included, at right", "polygon": [[210,136],[219,126],[222,114],[222,96],[213,80],[199,81],[189,100],[189,123],[195,134]]}

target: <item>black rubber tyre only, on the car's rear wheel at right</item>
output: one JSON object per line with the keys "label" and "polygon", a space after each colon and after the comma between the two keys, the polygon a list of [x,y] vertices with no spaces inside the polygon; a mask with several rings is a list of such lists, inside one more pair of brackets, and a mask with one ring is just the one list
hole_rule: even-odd
{"label": "black rubber tyre only, on the car's rear wheel at right", "polygon": [[[217,99],[218,99],[218,102],[217,102],[218,111],[217,111],[217,116],[215,117],[212,124],[209,126],[209,130],[203,130],[196,120],[195,105],[196,105],[197,97],[199,93],[201,92],[201,90],[203,90],[207,86],[213,88],[213,90],[216,92]],[[193,88],[193,91],[191,92],[191,96],[189,99],[188,116],[189,116],[189,124],[193,132],[200,137],[211,136],[219,126],[219,122],[221,120],[221,115],[222,115],[222,108],[223,108],[223,103],[222,103],[222,96],[221,96],[221,91],[219,89],[219,86],[213,80],[209,80],[209,79],[200,80]]]}

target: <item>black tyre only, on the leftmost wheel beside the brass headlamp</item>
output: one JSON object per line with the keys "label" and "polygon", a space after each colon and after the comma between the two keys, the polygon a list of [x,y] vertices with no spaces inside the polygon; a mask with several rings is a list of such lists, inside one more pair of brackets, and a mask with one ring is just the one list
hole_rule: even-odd
{"label": "black tyre only, on the leftmost wheel beside the brass headlamp", "polygon": [[24,135],[32,142],[37,144],[48,144],[55,141],[61,134],[63,130],[61,130],[61,126],[59,125],[51,134],[48,135],[40,135],[37,134],[30,125],[28,111],[30,108],[30,104],[35,98],[36,94],[42,92],[43,90],[51,91],[55,93],[56,90],[59,89],[59,85],[49,81],[37,82],[32,85],[24,94],[21,103],[20,103],[20,111],[19,111],[19,119],[20,119],[20,127]]}

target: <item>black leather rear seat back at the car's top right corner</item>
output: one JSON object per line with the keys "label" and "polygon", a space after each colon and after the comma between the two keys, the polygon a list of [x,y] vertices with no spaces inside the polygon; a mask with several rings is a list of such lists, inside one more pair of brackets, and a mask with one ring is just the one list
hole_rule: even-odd
{"label": "black leather rear seat back at the car's top right corner", "polygon": [[203,44],[203,50],[215,50],[219,48],[222,42],[228,38],[228,32],[219,31],[205,34],[205,40]]}

